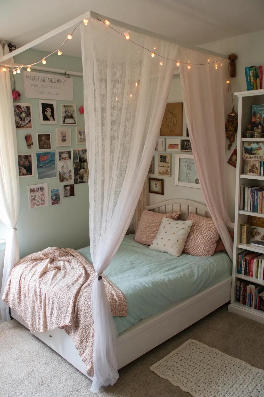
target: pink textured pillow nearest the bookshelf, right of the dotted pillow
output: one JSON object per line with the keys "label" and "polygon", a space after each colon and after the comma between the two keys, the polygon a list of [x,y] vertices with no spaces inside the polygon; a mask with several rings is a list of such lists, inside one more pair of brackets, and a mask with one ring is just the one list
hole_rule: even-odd
{"label": "pink textured pillow nearest the bookshelf, right of the dotted pillow", "polygon": [[193,222],[183,252],[194,256],[213,255],[220,237],[213,220],[194,212],[190,212],[188,220]]}

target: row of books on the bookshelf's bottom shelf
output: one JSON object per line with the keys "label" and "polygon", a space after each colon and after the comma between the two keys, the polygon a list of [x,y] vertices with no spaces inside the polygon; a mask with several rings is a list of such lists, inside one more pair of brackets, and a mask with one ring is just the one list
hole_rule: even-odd
{"label": "row of books on the bookshelf's bottom shelf", "polygon": [[264,311],[264,286],[237,281],[236,301],[256,310]]}

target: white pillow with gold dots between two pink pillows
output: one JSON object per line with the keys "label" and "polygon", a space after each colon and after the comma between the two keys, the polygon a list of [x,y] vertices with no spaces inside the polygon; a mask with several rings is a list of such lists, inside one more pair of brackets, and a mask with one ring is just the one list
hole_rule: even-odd
{"label": "white pillow with gold dots between two pink pillows", "polygon": [[163,218],[157,236],[150,245],[150,249],[167,252],[173,256],[180,256],[191,227],[192,221]]}

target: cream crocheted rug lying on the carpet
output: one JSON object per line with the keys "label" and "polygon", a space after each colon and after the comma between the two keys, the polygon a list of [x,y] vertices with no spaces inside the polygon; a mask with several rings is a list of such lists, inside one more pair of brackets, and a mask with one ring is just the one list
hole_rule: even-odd
{"label": "cream crocheted rug lying on the carpet", "polygon": [[150,369],[194,397],[264,396],[263,370],[193,339]]}

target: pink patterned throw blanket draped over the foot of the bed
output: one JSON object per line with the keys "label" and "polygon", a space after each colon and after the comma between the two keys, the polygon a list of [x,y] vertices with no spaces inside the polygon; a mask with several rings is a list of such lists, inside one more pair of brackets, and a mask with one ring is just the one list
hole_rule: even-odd
{"label": "pink patterned throw blanket draped over the foot of the bed", "polygon": [[[98,276],[97,276],[98,277]],[[113,316],[127,316],[123,293],[103,277]],[[28,324],[31,332],[63,328],[93,376],[91,290],[95,270],[85,258],[66,248],[49,247],[28,255],[13,268],[3,301]]]}

